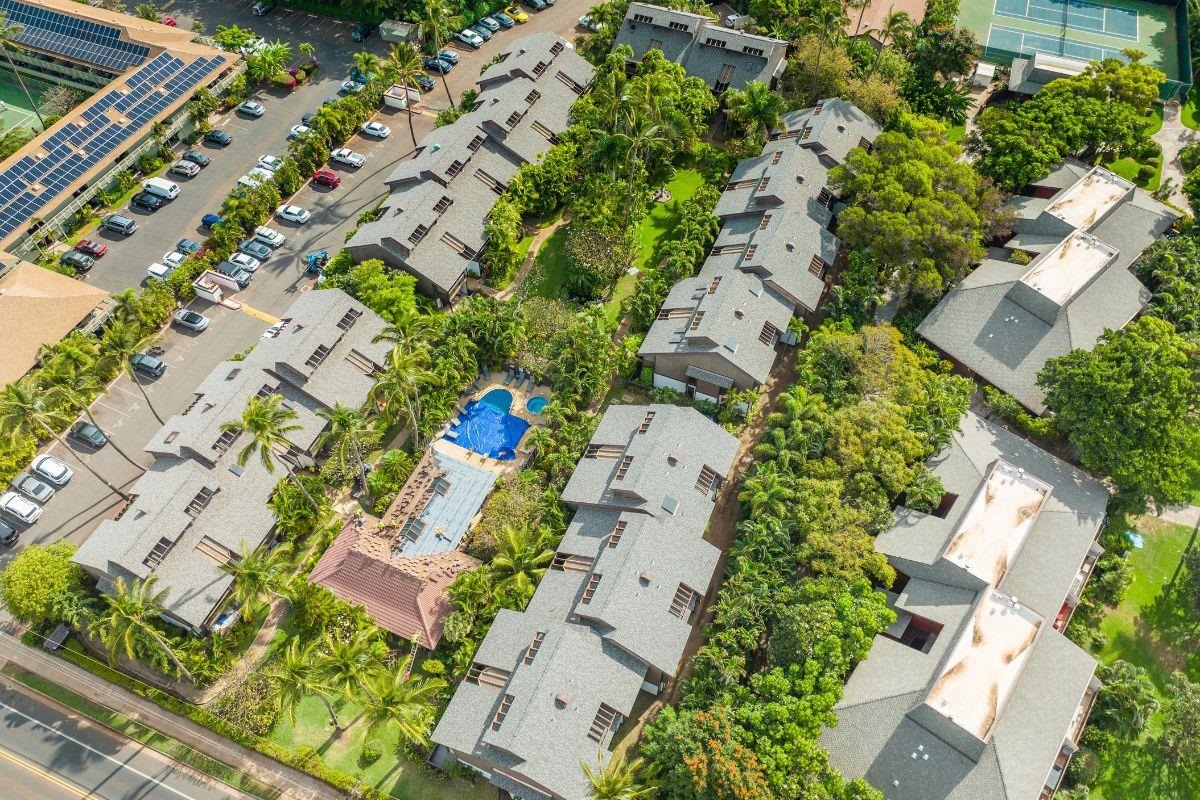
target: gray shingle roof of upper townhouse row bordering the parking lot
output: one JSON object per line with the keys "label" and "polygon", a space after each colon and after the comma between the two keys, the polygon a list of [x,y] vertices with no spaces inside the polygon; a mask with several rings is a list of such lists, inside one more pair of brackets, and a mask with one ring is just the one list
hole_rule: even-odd
{"label": "gray shingle roof of upper townhouse row bordering the parking lot", "polygon": [[497,196],[521,164],[550,150],[578,98],[575,88],[587,86],[593,72],[553,34],[512,42],[480,76],[473,109],[427,133],[392,169],[382,216],[347,247],[359,258],[382,254],[449,295],[478,265]]}

